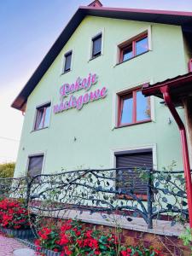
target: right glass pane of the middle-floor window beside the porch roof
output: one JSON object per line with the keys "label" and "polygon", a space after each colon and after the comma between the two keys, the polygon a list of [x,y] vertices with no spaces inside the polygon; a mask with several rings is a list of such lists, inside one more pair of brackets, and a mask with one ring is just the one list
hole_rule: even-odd
{"label": "right glass pane of the middle-floor window beside the porch roof", "polygon": [[150,98],[137,91],[137,121],[150,119]]}

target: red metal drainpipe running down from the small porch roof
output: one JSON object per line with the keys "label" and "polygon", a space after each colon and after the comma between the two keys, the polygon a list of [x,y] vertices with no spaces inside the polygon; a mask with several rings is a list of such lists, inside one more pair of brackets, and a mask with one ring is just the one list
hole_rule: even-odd
{"label": "red metal drainpipe running down from the small porch roof", "polygon": [[192,228],[192,183],[191,183],[191,175],[190,175],[190,165],[189,165],[189,152],[188,152],[188,144],[187,144],[187,136],[185,127],[183,125],[183,121],[180,118],[177,110],[172,103],[171,96],[169,94],[168,86],[163,86],[160,88],[161,93],[163,94],[164,100],[166,102],[167,107],[172,113],[173,118],[175,119],[182,142],[182,154],[183,154],[183,169],[184,169],[184,177],[186,181],[186,189],[187,189],[187,199],[188,199],[188,208],[189,208],[189,225]]}

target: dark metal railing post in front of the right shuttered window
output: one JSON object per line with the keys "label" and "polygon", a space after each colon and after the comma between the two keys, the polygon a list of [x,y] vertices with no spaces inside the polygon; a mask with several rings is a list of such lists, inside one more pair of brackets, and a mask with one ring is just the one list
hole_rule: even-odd
{"label": "dark metal railing post in front of the right shuttered window", "polygon": [[153,229],[153,219],[152,219],[152,199],[153,199],[153,191],[152,191],[152,178],[151,178],[151,170],[148,170],[148,189],[147,189],[147,198],[148,198],[148,229]]}

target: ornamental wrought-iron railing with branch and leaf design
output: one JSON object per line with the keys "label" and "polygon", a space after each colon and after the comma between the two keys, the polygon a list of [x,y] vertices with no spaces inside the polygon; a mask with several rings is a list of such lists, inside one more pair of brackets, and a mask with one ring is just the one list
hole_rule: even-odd
{"label": "ornamental wrought-iron railing with branch and leaf design", "polygon": [[79,170],[35,177],[0,178],[0,198],[17,198],[37,216],[62,218],[68,210],[143,218],[189,218],[183,171],[142,168]]}

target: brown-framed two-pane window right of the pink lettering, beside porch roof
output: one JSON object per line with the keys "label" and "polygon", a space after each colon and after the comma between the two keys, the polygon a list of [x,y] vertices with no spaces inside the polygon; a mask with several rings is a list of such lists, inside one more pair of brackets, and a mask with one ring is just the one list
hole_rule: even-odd
{"label": "brown-framed two-pane window right of the pink lettering, beside porch roof", "polygon": [[119,95],[118,126],[150,120],[150,97],[143,96],[141,89]]}

